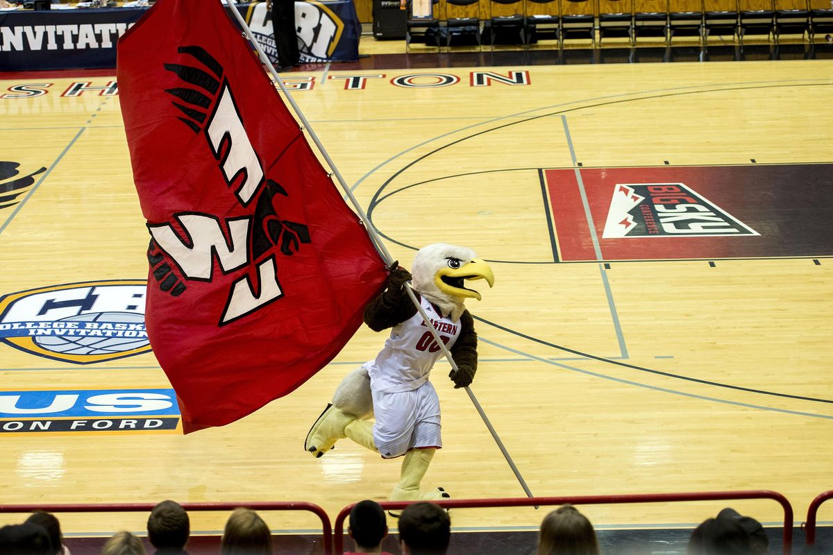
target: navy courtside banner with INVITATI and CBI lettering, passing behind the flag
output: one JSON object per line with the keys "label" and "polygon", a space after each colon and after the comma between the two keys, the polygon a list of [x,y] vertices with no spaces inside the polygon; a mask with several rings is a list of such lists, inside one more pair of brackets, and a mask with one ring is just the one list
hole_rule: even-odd
{"label": "navy courtside banner with INVITATI and CBI lettering, passing behind the flag", "polygon": [[[148,9],[0,12],[0,72],[116,67],[118,37]],[[252,27],[264,52],[276,62],[272,19],[266,2],[237,4],[237,9]],[[302,63],[358,59],[362,27],[352,0],[296,2],[295,14]]]}

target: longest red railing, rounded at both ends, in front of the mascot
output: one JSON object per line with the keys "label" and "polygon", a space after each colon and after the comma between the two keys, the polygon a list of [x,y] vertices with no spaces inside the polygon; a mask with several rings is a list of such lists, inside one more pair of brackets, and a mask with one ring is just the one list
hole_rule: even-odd
{"label": "longest red railing, rounded at both ends, in front of the mascot", "polygon": [[[588,495],[556,498],[506,498],[506,499],[442,499],[431,501],[445,508],[496,508],[496,507],[537,507],[546,505],[609,505],[617,503],[669,503],[676,501],[720,501],[723,499],[773,499],[784,509],[783,553],[790,555],[792,549],[792,506],[781,493],[769,490],[743,492],[701,492],[701,493],[640,493],[635,495]],[[414,502],[384,501],[379,503],[385,509],[405,508]],[[344,521],[353,505],[347,505],[338,513],[333,523],[335,552],[344,553]]]}

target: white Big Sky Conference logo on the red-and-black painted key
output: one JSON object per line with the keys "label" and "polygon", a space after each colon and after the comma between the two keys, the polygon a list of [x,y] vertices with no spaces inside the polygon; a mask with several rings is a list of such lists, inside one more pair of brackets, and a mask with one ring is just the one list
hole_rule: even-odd
{"label": "white Big Sky Conference logo on the red-and-black painted key", "polygon": [[616,184],[602,237],[759,235],[684,183]]}

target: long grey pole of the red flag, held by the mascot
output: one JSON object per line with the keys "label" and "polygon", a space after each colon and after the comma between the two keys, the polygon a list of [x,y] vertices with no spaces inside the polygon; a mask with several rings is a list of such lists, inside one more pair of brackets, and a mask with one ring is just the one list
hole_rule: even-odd
{"label": "long grey pole of the red flag, held by the mascot", "polygon": [[[387,247],[384,245],[384,243],[382,243],[382,239],[379,237],[377,230],[367,219],[367,215],[365,214],[365,211],[362,209],[362,205],[359,204],[359,201],[357,200],[356,196],[353,195],[353,191],[350,189],[349,186],[347,186],[347,182],[344,181],[344,177],[342,177],[341,172],[338,171],[336,164],[332,161],[332,158],[330,158],[330,155],[327,153],[327,149],[324,148],[324,145],[316,135],[316,132],[312,130],[310,122],[307,121],[307,117],[304,116],[303,112],[301,111],[301,108],[298,107],[297,102],[295,102],[295,99],[292,98],[292,94],[290,94],[286,84],[284,84],[281,77],[277,74],[277,70],[272,65],[272,61],[269,59],[269,57],[267,57],[266,52],[263,52],[263,49],[260,46],[260,44],[258,44],[257,39],[252,34],[252,29],[250,29],[249,26],[246,24],[246,21],[243,19],[240,12],[237,11],[237,7],[235,7],[232,0],[222,0],[222,2],[226,4],[226,6],[229,8],[229,11],[231,11],[232,15],[237,19],[237,23],[243,30],[243,36],[247,37],[249,42],[251,42],[252,45],[255,47],[258,57],[260,57],[261,61],[264,63],[264,65],[266,65],[269,72],[272,73],[272,81],[277,83],[277,86],[280,87],[284,97],[287,98],[287,101],[289,101],[290,106],[292,106],[292,110],[295,111],[295,114],[298,116],[298,119],[301,120],[301,131],[307,131],[310,138],[312,138],[312,141],[315,143],[315,146],[317,146],[318,151],[321,152],[322,156],[324,157],[324,160],[327,161],[327,165],[330,166],[330,169],[332,170],[332,176],[336,177],[339,185],[342,186],[342,190],[347,194],[347,198],[349,198],[352,202],[353,208],[357,211],[359,217],[362,218],[362,221],[365,225],[365,229],[367,229],[367,233],[370,235],[373,245],[376,247],[376,250],[379,252],[379,255],[382,256],[382,260],[385,260],[385,263],[387,265],[391,265],[393,262],[393,257],[391,256],[391,253],[388,252]],[[440,349],[442,349],[442,354],[446,356],[446,359],[448,359],[449,364],[451,364],[451,369],[456,372],[458,370],[458,367],[456,362],[454,362],[454,359],[451,357],[451,351],[448,350],[446,344],[443,343],[440,339],[439,334],[436,333],[434,326],[431,325],[431,319],[426,314],[426,311],[422,308],[422,305],[419,302],[419,300],[416,299],[416,295],[414,295],[414,292],[411,288],[411,284],[406,283],[405,289],[407,290],[408,296],[411,297],[413,304],[416,306],[416,310],[419,311],[420,315],[422,316],[422,319],[425,320],[425,323],[428,326],[428,330],[431,332],[431,335],[436,341],[436,344],[438,344],[440,346]],[[500,437],[498,437],[495,428],[491,425],[491,422],[486,417],[486,413],[483,411],[481,404],[477,401],[474,392],[472,392],[471,388],[467,385],[466,393],[468,394],[469,399],[471,399],[471,402],[474,404],[475,409],[477,409],[477,413],[480,414],[481,419],[483,419],[483,423],[486,424],[486,428],[489,430],[492,439],[495,440],[497,447],[501,449],[503,457],[506,458],[506,462],[509,463],[509,468],[511,468],[512,472],[515,473],[515,477],[518,479],[518,482],[521,483],[521,488],[523,488],[524,492],[526,492],[526,496],[532,497],[532,492],[526,485],[526,482],[521,476],[520,471],[518,471],[515,463],[512,461],[512,458],[509,456],[509,452],[506,451],[506,447],[503,445],[503,442],[501,441]]]}

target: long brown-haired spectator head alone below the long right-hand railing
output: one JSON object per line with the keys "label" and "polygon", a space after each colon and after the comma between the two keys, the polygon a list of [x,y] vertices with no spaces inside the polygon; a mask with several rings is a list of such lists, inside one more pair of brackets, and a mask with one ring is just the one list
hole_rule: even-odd
{"label": "long brown-haired spectator head alone below the long right-hand railing", "polygon": [[552,511],[541,523],[537,555],[599,555],[596,531],[570,504]]}

